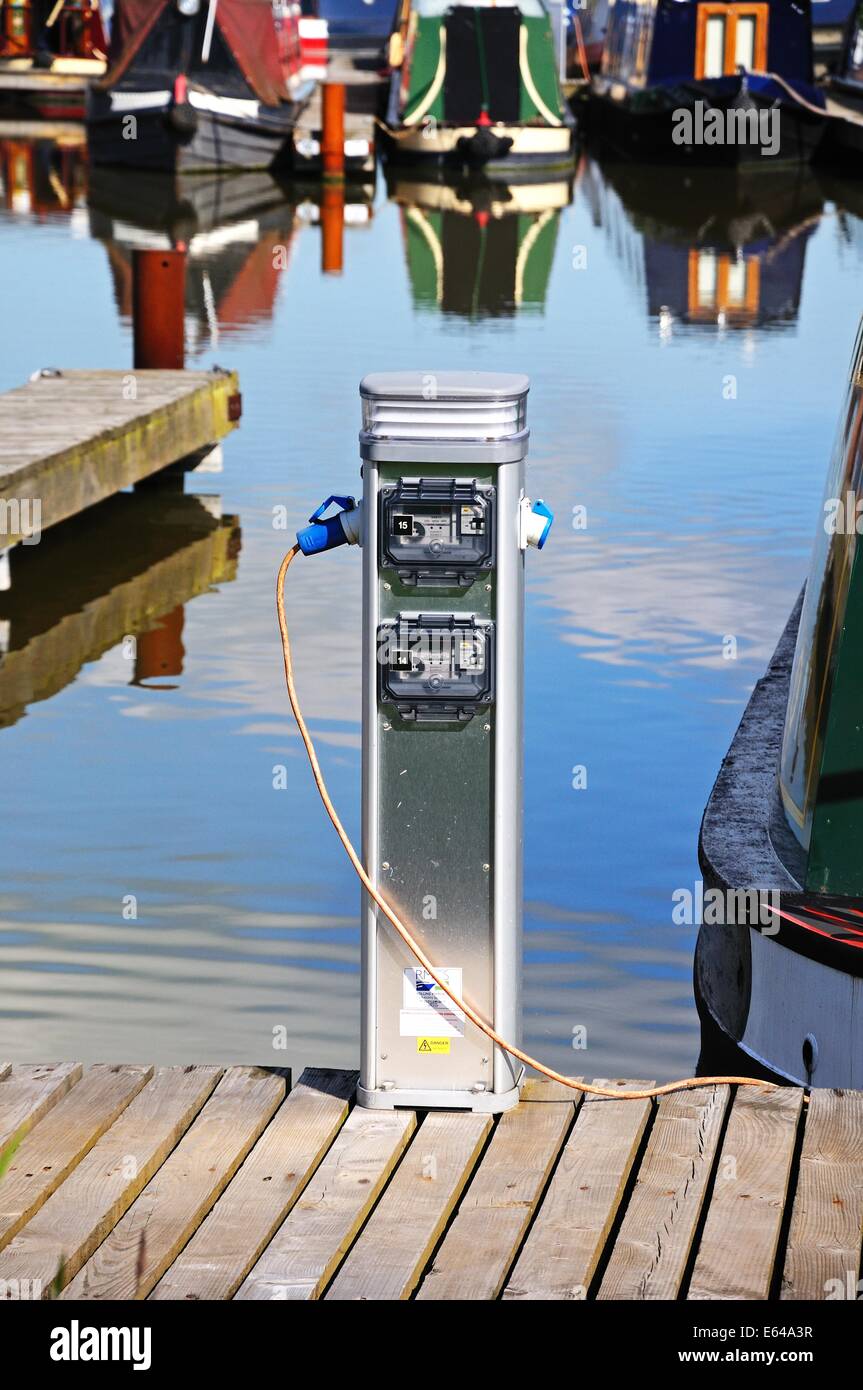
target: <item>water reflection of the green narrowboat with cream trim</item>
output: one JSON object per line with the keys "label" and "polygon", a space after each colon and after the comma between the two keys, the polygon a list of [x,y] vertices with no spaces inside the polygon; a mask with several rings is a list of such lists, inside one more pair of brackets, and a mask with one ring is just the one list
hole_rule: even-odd
{"label": "water reflection of the green narrowboat with cream trim", "polygon": [[399,178],[389,196],[402,208],[416,309],[489,318],[543,307],[570,178],[518,185]]}

